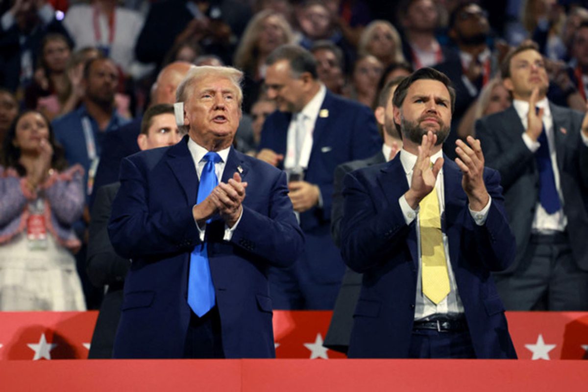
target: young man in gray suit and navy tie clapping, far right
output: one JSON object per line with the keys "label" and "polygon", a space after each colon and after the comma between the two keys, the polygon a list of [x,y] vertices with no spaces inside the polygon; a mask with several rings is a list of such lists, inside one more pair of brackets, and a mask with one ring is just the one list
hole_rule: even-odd
{"label": "young man in gray suit and navy tie clapping, far right", "polygon": [[497,289],[510,310],[587,310],[588,116],[547,100],[533,43],[507,56],[502,77],[513,106],[476,123],[517,244]]}

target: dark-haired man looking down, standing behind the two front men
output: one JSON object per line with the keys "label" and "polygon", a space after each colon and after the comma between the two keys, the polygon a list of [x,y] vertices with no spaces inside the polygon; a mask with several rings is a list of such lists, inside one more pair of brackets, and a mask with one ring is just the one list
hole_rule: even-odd
{"label": "dark-haired man looking down, standing behind the two front men", "polygon": [[326,90],[308,50],[284,45],[266,63],[267,92],[278,111],[263,124],[258,158],[289,173],[306,238],[299,262],[272,271],[272,298],[278,309],[332,309],[345,272],[330,238],[333,173],[339,164],[373,156],[382,140],[368,107]]}

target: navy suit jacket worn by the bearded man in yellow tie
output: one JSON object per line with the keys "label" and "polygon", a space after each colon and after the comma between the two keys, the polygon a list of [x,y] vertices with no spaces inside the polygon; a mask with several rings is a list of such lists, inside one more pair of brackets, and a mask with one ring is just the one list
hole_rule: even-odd
{"label": "navy suit jacket worn by the bearded man in yellow tie", "polygon": [[[484,171],[492,204],[476,225],[462,188],[462,173],[445,160],[444,232],[449,257],[478,358],[515,358],[505,307],[490,271],[505,269],[515,255],[515,240],[503,209],[500,175]],[[348,174],[341,222],[343,259],[363,273],[355,310],[349,357],[407,357],[415,317],[419,268],[416,222],[406,225],[399,198],[408,190],[400,154],[389,163]]]}

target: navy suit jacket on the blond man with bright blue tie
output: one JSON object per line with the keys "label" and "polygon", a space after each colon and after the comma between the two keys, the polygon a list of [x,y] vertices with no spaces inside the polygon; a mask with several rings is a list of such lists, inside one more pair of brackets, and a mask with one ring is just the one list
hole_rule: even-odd
{"label": "navy suit jacket on the blond man with bright blue tie", "polygon": [[[172,147],[124,158],[108,230],[116,252],[131,258],[114,357],[181,358],[190,308],[190,253],[201,245],[192,207],[198,174],[188,136]],[[267,269],[289,266],[303,246],[286,175],[231,148],[226,182],[248,182],[243,215],[223,241],[224,221],[206,225],[206,244],[226,358],[274,357]]]}

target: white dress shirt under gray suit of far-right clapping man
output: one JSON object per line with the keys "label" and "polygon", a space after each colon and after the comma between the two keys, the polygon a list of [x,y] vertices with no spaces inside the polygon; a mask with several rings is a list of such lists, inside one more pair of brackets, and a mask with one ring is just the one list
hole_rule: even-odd
{"label": "white dress shirt under gray suit of far-right clapping man", "polygon": [[[521,122],[523,123],[523,128],[527,129],[527,114],[529,114],[529,102],[514,100],[513,106]],[[537,102],[536,106],[543,108],[543,127],[546,132],[547,136],[547,144],[549,144],[549,157],[551,159],[552,168],[553,168],[553,177],[555,178],[555,187],[557,190],[557,194],[559,195],[559,200],[563,203],[565,202],[563,199],[562,194],[562,187],[560,185],[560,175],[559,175],[559,168],[557,167],[557,156],[556,156],[556,148],[555,148],[555,136],[553,131],[553,117],[551,114],[551,110],[549,110],[549,101],[547,98],[544,98]],[[524,144],[526,144],[527,148],[532,153],[535,153],[541,143],[539,141],[533,141],[526,132],[522,134]],[[553,214],[548,214],[547,211],[543,208],[540,201],[537,201],[537,206],[535,209],[535,217],[533,218],[533,224],[531,226],[532,231],[535,233],[542,233],[542,234],[553,234],[556,231],[564,231],[567,225],[567,218],[566,215],[563,213],[563,208],[560,208],[559,211],[554,212]]]}

